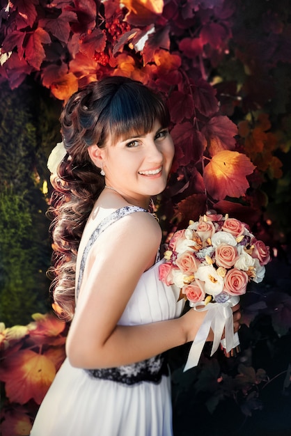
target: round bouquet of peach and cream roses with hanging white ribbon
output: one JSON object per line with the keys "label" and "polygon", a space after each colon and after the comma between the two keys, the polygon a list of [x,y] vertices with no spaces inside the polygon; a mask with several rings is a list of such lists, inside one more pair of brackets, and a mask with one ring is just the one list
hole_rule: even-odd
{"label": "round bouquet of peach and cream roses with hanging white ribbon", "polygon": [[180,295],[195,310],[207,311],[184,371],[198,364],[210,328],[214,332],[211,355],[219,343],[227,353],[236,348],[239,338],[233,332],[231,307],[246,293],[249,281],[262,281],[270,260],[269,247],[238,219],[209,211],[173,234],[164,258],[159,279],[178,286]]}

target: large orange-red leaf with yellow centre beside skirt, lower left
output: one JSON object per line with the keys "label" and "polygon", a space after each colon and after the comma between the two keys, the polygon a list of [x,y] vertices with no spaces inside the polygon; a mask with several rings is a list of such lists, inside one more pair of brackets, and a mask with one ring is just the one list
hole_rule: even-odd
{"label": "large orange-red leaf with yellow centre beside skirt, lower left", "polygon": [[0,368],[0,379],[6,382],[6,396],[11,403],[25,404],[33,398],[40,404],[55,375],[53,362],[31,350],[10,355]]}

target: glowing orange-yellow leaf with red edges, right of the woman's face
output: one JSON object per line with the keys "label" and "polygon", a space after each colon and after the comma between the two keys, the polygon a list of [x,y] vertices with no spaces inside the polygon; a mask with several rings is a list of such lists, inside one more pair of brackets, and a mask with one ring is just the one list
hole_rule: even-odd
{"label": "glowing orange-yellow leaf with red edges, right of the woman's face", "polygon": [[249,182],[246,176],[255,166],[249,157],[237,151],[224,150],[212,157],[205,166],[203,179],[207,192],[217,200],[226,196],[239,198],[246,193]]}

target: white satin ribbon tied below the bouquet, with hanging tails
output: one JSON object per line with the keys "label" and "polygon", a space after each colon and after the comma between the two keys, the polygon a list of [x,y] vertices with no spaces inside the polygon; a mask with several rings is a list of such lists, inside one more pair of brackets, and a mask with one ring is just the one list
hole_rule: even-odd
{"label": "white satin ribbon tied below the bouquet, with hanging tails", "polygon": [[[230,350],[239,345],[238,334],[233,332],[233,311],[231,309],[238,302],[239,297],[236,295],[230,297],[227,302],[209,303],[203,307],[201,307],[201,303],[190,302],[194,310],[207,311],[207,313],[191,345],[184,371],[198,365],[210,328],[214,334],[211,356],[214,355],[214,352],[219,348],[219,343],[223,345],[223,348],[226,348],[226,352],[230,352]],[[223,329],[224,338],[221,339]]]}

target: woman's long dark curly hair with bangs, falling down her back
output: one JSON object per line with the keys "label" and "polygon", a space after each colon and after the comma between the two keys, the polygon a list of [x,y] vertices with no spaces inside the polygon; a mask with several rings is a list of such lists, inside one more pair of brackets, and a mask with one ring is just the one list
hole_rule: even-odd
{"label": "woman's long dark curly hair with bangs, falling down her back", "polygon": [[52,307],[71,320],[75,307],[76,260],[81,235],[93,205],[104,189],[104,177],[88,147],[102,148],[125,134],[147,134],[156,120],[168,127],[170,116],[160,95],[139,81],[107,77],[74,93],[61,113],[61,134],[67,154],[52,177],[49,216],[53,239],[49,288]]}

